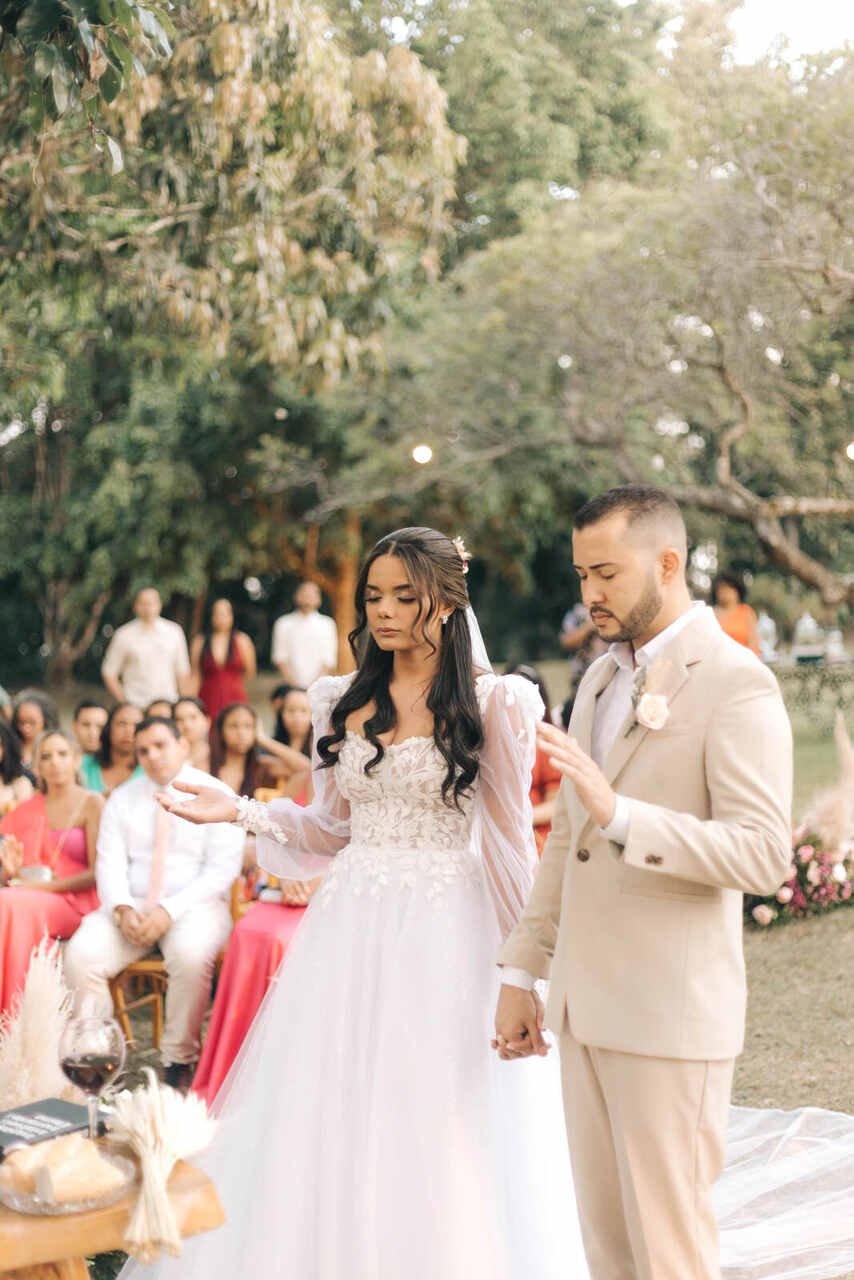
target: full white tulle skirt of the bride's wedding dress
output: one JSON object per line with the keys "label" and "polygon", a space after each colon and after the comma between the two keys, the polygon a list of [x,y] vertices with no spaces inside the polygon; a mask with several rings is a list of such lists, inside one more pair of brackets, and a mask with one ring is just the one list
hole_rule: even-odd
{"label": "full white tulle skirt of the bride's wedding dress", "polygon": [[198,1160],[227,1215],[123,1275],[586,1280],[557,1050],[501,1062],[480,883],[348,883],[311,902]]}

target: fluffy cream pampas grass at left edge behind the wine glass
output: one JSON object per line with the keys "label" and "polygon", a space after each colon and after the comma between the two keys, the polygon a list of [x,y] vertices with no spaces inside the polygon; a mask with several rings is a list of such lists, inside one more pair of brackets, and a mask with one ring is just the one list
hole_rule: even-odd
{"label": "fluffy cream pampas grass at left edge behind the wine glass", "polygon": [[59,946],[45,937],[33,947],[17,1005],[0,1016],[0,1111],[41,1098],[85,1101],[59,1065],[59,1039],[70,1011]]}

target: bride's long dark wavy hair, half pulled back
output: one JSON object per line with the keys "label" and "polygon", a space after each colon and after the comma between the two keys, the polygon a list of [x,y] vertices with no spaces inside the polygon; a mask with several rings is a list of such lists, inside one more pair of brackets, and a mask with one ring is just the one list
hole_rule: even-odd
{"label": "bride's long dark wavy hair, half pulled back", "polygon": [[[478,777],[478,751],[483,746],[483,722],[475,692],[475,673],[471,660],[471,635],[466,609],[469,591],[460,554],[444,534],[435,529],[398,529],[380,538],[362,564],[356,584],[356,626],[351,631],[350,648],[359,664],[356,676],[332,712],[332,733],[318,742],[323,768],[330,768],[338,762],[338,750],[344,740],[347,717],[373,701],[376,710],[362,728],[375,754],[365,765],[370,774],[383,759],[385,750],[379,741],[379,733],[387,733],[397,723],[394,703],[388,691],[392,675],[393,654],[380,649],[371,635],[364,644],[360,657],[360,640],[367,626],[365,613],[365,589],[371,564],[380,556],[397,556],[402,561],[410,582],[419,596],[419,613],[415,628],[421,626],[421,636],[435,652],[435,645],[428,636],[428,626],[442,607],[451,608],[447,623],[442,627],[439,646],[439,668],[426,699],[428,710],[433,712],[433,740],[442,754],[448,772],[442,783],[442,797],[446,804],[460,808],[460,796],[470,791]],[[453,800],[451,800],[453,794]]]}

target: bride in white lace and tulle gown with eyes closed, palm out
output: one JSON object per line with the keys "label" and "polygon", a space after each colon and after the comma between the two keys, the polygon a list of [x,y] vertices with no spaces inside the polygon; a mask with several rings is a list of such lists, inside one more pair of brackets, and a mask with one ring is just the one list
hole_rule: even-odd
{"label": "bride in white lace and tulle gown with eyes closed, palm out", "polygon": [[146,1275],[588,1275],[556,1064],[508,1071],[489,1047],[495,955],[536,865],[542,704],[488,669],[465,571],[433,529],[367,557],[359,671],[310,691],[310,808],[160,797],[256,832],[274,876],[325,879],[215,1103],[202,1164],[225,1226]]}

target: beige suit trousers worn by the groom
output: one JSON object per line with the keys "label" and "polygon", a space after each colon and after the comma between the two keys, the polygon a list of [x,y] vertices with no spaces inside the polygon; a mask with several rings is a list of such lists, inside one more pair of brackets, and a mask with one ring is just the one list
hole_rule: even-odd
{"label": "beige suit trousers worn by the groom", "polygon": [[720,1280],[712,1188],[734,1060],[641,1057],[560,1038],[590,1280]]}

